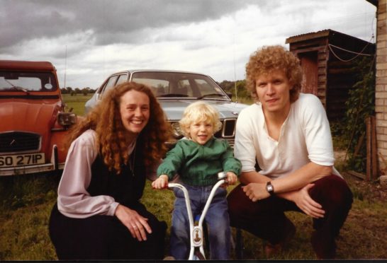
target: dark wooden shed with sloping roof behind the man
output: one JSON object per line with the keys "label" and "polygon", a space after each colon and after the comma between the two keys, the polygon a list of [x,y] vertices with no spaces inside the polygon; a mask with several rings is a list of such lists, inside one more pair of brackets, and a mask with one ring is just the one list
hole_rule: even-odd
{"label": "dark wooden shed with sloping roof behind the man", "polygon": [[305,72],[301,92],[317,95],[330,121],[344,117],[348,91],[357,82],[354,62],[373,56],[375,44],[330,29],[288,37],[286,44]]}

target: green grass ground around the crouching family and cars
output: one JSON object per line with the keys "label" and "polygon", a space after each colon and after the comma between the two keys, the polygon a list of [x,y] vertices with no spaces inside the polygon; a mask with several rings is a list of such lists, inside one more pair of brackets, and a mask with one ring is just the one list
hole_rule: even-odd
{"label": "green grass ground around the crouching family and cars", "polygon": [[[87,97],[64,95],[64,100],[74,112],[83,115]],[[337,168],[344,168],[344,165],[339,163]],[[340,172],[354,193],[354,204],[337,239],[337,258],[387,259],[386,187],[377,182],[357,180],[344,170]],[[59,180],[60,175],[52,174],[0,178],[0,260],[57,259],[47,224]],[[153,190],[147,182],[142,202],[170,226],[173,199],[171,191]],[[315,259],[309,242],[311,218],[294,212],[289,212],[288,216],[296,225],[296,236],[281,255],[271,259]],[[244,259],[266,259],[262,240],[247,232],[243,232],[243,237]],[[166,253],[168,240],[169,232]],[[235,259],[235,255],[232,258]]]}

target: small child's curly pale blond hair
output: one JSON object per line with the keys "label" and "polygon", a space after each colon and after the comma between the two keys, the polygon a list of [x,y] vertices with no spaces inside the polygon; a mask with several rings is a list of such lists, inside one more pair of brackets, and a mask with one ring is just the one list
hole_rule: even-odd
{"label": "small child's curly pale blond hair", "polygon": [[181,133],[190,137],[189,127],[195,122],[211,122],[214,133],[222,128],[218,110],[203,101],[197,101],[186,107],[183,117],[179,121]]}

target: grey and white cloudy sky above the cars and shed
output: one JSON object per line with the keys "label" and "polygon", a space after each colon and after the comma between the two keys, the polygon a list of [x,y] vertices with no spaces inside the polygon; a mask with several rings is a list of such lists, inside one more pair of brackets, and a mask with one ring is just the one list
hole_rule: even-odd
{"label": "grey and white cloudy sky above the cars and shed", "polygon": [[332,29],[375,42],[366,0],[0,0],[0,59],[50,61],[60,86],[97,88],[124,69],[245,78],[249,55]]}

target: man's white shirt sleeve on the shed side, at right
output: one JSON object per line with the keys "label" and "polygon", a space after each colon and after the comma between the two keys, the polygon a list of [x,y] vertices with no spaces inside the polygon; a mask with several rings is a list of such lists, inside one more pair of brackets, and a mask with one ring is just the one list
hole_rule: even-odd
{"label": "man's white shirt sleeve on the shed side, at right", "polygon": [[315,95],[309,95],[308,103],[303,107],[303,122],[309,160],[319,165],[334,165],[330,124],[320,99]]}

